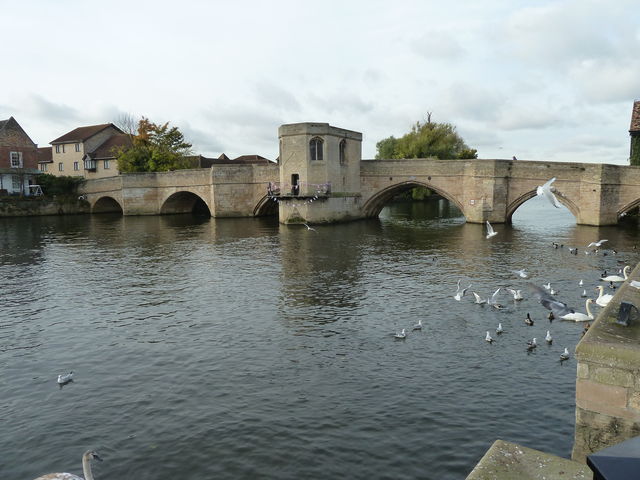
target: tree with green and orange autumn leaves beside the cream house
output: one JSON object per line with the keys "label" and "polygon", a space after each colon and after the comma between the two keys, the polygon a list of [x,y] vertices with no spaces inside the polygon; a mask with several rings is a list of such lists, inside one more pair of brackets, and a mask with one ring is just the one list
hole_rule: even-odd
{"label": "tree with green and orange autumn leaves beside the cream house", "polygon": [[121,148],[116,153],[118,169],[123,173],[167,172],[190,167],[186,158],[191,153],[191,144],[177,127],[162,125],[142,117],[137,134],[132,136],[132,146]]}

